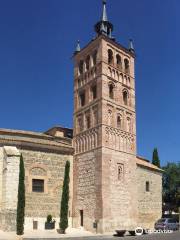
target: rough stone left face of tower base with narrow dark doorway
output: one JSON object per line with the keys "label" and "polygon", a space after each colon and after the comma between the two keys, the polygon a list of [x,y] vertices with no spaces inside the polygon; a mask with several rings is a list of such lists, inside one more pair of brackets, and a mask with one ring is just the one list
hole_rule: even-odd
{"label": "rough stone left face of tower base with narrow dark doorway", "polygon": [[74,156],[73,227],[96,232],[94,223],[102,216],[101,151]]}

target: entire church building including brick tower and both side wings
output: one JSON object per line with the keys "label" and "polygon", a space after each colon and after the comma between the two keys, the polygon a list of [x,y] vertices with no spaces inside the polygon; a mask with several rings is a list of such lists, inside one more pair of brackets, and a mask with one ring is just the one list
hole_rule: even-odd
{"label": "entire church building including brick tower and both side wings", "polygon": [[[96,38],[74,53],[74,128],[0,130],[0,228],[15,220],[19,158],[25,162],[25,228],[59,221],[67,160],[70,227],[91,232],[153,228],[161,217],[162,170],[137,157],[135,51],[112,37],[106,1]],[[12,184],[13,181],[13,184]],[[11,221],[10,221],[11,219]],[[14,225],[13,225],[14,226]]]}

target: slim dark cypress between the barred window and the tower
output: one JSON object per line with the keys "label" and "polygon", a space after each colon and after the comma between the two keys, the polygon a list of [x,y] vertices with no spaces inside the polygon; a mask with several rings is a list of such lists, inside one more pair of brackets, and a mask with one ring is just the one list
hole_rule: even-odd
{"label": "slim dark cypress between the barred window and the tower", "polygon": [[61,198],[60,223],[59,223],[59,228],[63,231],[63,233],[68,227],[68,203],[69,203],[69,180],[70,180],[69,171],[70,171],[70,162],[67,161],[65,165],[63,191],[62,191],[62,198]]}

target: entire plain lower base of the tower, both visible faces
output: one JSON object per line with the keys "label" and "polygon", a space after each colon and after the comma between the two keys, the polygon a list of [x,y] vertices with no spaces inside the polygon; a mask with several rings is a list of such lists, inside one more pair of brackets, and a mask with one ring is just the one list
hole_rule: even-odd
{"label": "entire plain lower base of the tower, both visible faces", "polygon": [[135,172],[136,157],[132,154],[99,148],[75,156],[73,227],[94,233],[134,230]]}

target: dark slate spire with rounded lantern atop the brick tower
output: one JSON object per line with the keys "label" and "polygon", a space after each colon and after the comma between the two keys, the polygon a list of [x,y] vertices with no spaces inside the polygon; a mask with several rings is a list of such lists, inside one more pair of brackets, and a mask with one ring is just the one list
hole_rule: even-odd
{"label": "dark slate spire with rounded lantern atop the brick tower", "polygon": [[98,35],[103,34],[103,35],[106,35],[109,38],[111,38],[111,33],[113,31],[113,25],[112,25],[112,23],[110,23],[108,21],[107,10],[106,10],[106,4],[107,4],[106,0],[103,0],[102,3],[103,3],[102,18],[98,23],[96,23],[94,28]]}

